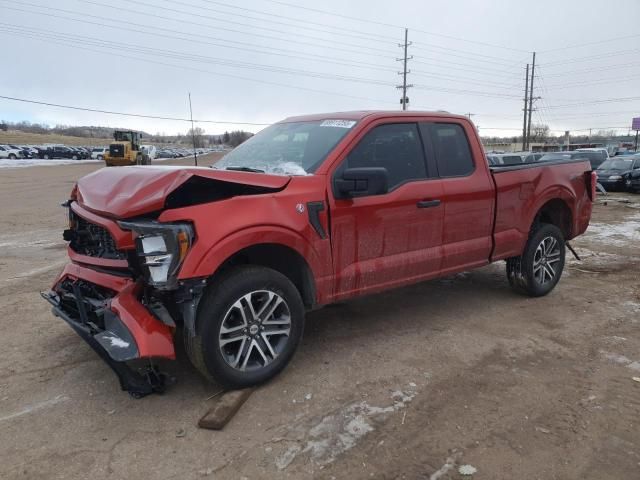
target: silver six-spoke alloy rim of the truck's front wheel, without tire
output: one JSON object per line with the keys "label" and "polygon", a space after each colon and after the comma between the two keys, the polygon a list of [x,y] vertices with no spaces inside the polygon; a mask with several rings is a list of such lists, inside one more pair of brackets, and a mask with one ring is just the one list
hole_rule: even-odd
{"label": "silver six-spoke alloy rim of the truck's front wheel, without tire", "polygon": [[271,364],[289,341],[291,311],[277,293],[256,290],[243,295],[227,311],[218,342],[225,362],[240,371]]}

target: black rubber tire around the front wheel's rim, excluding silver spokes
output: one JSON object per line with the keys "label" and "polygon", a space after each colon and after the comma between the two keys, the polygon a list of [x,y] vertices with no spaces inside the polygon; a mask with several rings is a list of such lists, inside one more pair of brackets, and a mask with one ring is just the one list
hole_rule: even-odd
{"label": "black rubber tire around the front wheel's rim, excluding silver spokes", "polygon": [[[238,332],[237,336],[235,333],[227,334],[233,335],[234,339],[240,337],[245,339],[255,338],[256,345],[260,343],[261,351],[267,353],[269,363],[267,363],[266,357],[261,359],[258,355],[260,351],[258,351],[257,347],[254,348],[253,343],[249,343],[245,358],[251,361],[251,364],[249,364],[249,361],[245,361],[244,363],[249,369],[243,370],[229,363],[232,361],[229,357],[233,355],[226,349],[233,350],[238,348],[238,352],[240,352],[243,350],[245,341],[251,342],[252,340],[229,342],[224,347],[225,353],[223,353],[220,336],[225,335],[225,333],[221,333],[221,328],[223,322],[228,322],[232,319],[234,312],[239,312],[236,305],[245,295],[255,294],[259,296],[263,292],[264,295],[273,293],[284,301],[284,306],[282,306],[282,303],[279,304],[280,306],[274,310],[273,315],[267,316],[267,319],[276,319],[275,315],[278,309],[287,308],[290,320],[288,336],[275,334],[277,342],[275,346],[270,341],[268,342],[268,348],[273,352],[277,352],[275,356],[272,356],[269,350],[265,348],[267,344],[264,340],[267,337],[264,337],[264,335],[268,335],[269,328],[276,328],[274,325],[267,325],[267,332],[264,334],[260,333],[260,330],[253,332],[253,337],[251,337],[250,332],[247,332],[248,329],[243,330],[246,334],[242,332]],[[262,305],[265,305],[265,303]],[[260,307],[259,303],[254,306],[254,310],[259,310],[258,307]],[[245,314],[248,313],[246,308],[243,307],[243,310]],[[258,385],[276,376],[293,357],[302,338],[304,314],[305,309],[300,292],[287,277],[270,268],[253,265],[240,266],[223,274],[221,278],[205,290],[198,308],[195,335],[185,329],[185,349],[193,365],[211,381],[229,388],[246,388]],[[286,318],[286,315],[282,318]],[[247,325],[253,328],[257,324],[257,322],[255,324],[249,322]],[[226,325],[229,325],[229,323],[226,323]],[[236,325],[233,328],[238,327]],[[263,329],[264,327],[258,328]],[[242,344],[238,346],[238,342],[242,342]],[[242,358],[241,353],[238,353],[236,358],[240,360]],[[255,363],[261,362],[264,365],[255,365]],[[241,366],[239,365],[238,367]]]}

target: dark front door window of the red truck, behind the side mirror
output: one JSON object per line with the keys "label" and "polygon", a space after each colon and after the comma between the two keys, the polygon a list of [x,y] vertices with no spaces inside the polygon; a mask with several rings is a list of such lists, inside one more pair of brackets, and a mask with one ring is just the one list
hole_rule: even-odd
{"label": "dark front door window of the red truck, behind the side mirror", "polygon": [[375,127],[349,153],[344,168],[382,167],[389,174],[389,190],[410,180],[426,178],[422,142],[415,123]]}

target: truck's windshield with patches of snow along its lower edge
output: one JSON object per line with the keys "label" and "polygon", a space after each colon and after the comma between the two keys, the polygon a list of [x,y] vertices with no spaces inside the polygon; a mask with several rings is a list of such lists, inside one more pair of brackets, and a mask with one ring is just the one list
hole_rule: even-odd
{"label": "truck's windshield with patches of snow along its lower edge", "polygon": [[309,175],[355,124],[353,120],[277,123],[236,147],[212,167]]}

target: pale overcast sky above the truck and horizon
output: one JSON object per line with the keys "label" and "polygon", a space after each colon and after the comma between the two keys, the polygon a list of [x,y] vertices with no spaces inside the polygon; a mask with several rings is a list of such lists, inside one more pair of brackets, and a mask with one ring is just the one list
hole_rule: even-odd
{"label": "pale overcast sky above the truck and horizon", "polygon": [[[483,135],[517,135],[536,50],[534,123],[626,130],[640,116],[639,20],[639,0],[0,0],[0,95],[188,118],[191,92],[194,118],[251,123],[398,109],[406,26],[411,109],[470,112]],[[0,119],[189,128],[3,99]]]}

